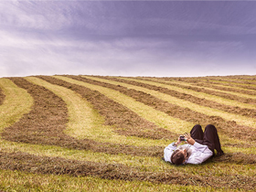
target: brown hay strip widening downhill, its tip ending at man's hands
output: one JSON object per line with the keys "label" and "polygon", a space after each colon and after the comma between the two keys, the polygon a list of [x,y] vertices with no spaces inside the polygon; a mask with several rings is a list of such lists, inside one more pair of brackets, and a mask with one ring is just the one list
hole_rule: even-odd
{"label": "brown hay strip widening downhill, its tip ending at man's hands", "polygon": [[144,120],[137,113],[116,101],[112,101],[98,91],[91,91],[83,86],[71,84],[49,76],[40,76],[39,78],[80,93],[104,117],[106,125],[114,125],[116,133],[150,139],[170,139],[178,136],[175,133],[156,126],[155,123]]}

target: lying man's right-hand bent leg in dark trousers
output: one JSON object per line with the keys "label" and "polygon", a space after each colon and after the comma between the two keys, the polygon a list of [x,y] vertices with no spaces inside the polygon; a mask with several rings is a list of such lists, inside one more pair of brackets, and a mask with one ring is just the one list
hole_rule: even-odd
{"label": "lying man's right-hand bent leg in dark trousers", "polygon": [[219,142],[219,134],[214,125],[208,124],[204,132],[204,144],[208,145],[208,148],[214,152],[214,149],[217,150],[218,155],[222,155],[223,151]]}

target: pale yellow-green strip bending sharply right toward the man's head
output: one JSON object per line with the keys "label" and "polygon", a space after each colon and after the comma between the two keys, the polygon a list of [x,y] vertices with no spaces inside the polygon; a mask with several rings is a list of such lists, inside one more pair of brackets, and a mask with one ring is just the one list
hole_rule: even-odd
{"label": "pale yellow-green strip bending sharply right toward the man's head", "polygon": [[[46,78],[50,79],[50,77]],[[48,81],[41,80],[38,78],[27,77],[26,80],[29,80],[37,85],[47,88],[49,91],[52,91],[53,93],[57,94],[63,101],[66,102],[69,111],[69,123],[67,123],[67,129],[65,130],[65,133],[68,133],[73,137],[80,139],[87,138],[104,143],[129,144],[136,146],[165,146],[166,144],[169,143],[167,141],[165,142],[163,139],[153,140],[145,139],[143,137],[126,137],[124,135],[117,134],[115,133],[115,130],[119,128],[119,124],[115,123],[113,126],[104,126],[104,120],[102,116],[96,110],[93,109],[93,105],[91,105],[89,101],[83,99],[81,95],[77,92],[71,91],[70,89],[64,88],[63,86],[51,84]],[[51,78],[51,80],[56,79]],[[101,100],[98,101],[97,104],[99,102],[101,102]],[[115,111],[115,109],[112,109],[112,107],[109,107],[108,110]],[[114,118],[114,116],[112,116],[112,118]],[[122,126],[122,124],[120,125]],[[120,128],[124,129],[125,127]],[[141,131],[142,133],[142,130],[139,130],[137,126],[129,128],[133,128],[133,130],[137,132]]]}

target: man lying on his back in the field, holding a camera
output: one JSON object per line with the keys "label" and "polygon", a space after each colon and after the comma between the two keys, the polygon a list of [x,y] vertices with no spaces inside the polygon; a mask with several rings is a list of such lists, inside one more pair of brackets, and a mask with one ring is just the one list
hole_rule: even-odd
{"label": "man lying on his back in the field, holding a camera", "polygon": [[[179,145],[182,141],[187,144]],[[196,124],[189,133],[178,137],[176,143],[169,144],[164,150],[165,162],[174,165],[194,164],[198,165],[215,155],[224,155],[220,142],[219,134],[214,125],[208,124],[203,132],[201,125]]]}

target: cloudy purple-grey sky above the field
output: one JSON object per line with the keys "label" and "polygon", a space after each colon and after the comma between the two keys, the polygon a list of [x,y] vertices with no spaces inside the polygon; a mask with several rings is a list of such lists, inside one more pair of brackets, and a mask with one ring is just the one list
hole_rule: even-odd
{"label": "cloudy purple-grey sky above the field", "polygon": [[0,77],[256,75],[256,1],[0,1]]}

